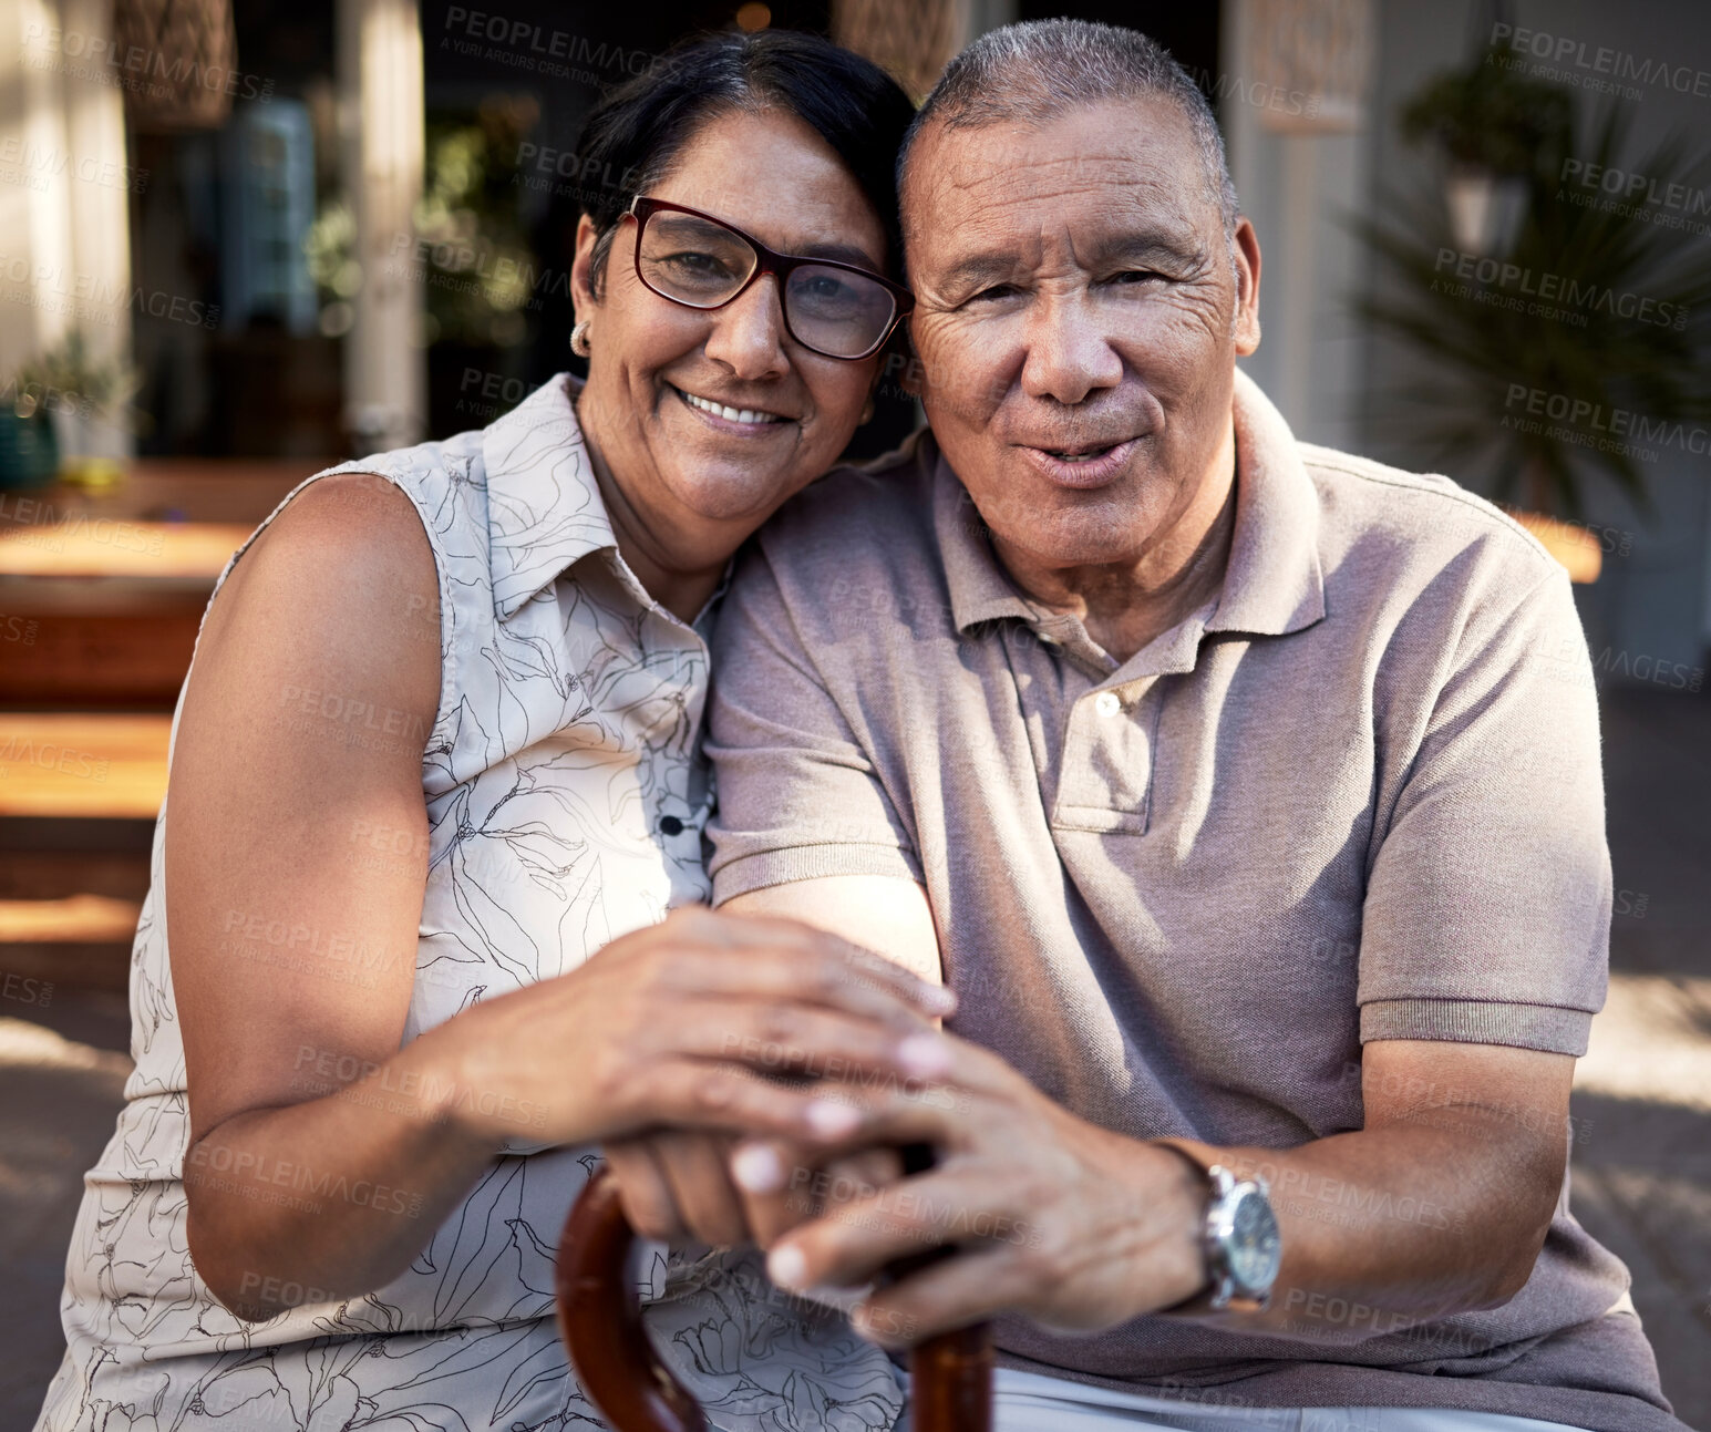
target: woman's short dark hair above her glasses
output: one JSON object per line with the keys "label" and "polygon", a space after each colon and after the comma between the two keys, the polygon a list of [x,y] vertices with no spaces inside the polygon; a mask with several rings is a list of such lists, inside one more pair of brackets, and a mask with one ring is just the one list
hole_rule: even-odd
{"label": "woman's short dark hair above her glasses", "polygon": [[[915,106],[885,70],[818,34],[736,31],[683,41],[602,99],[577,144],[582,212],[599,234],[599,293],[618,221],[638,193],[671,173],[683,145],[717,115],[784,109],[844,161],[885,229],[886,262],[902,274],[897,152]],[[739,216],[732,216],[741,222]]]}

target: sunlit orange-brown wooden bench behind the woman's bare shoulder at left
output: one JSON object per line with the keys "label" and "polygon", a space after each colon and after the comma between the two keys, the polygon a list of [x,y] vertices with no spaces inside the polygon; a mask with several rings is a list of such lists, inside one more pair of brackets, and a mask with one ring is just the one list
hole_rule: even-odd
{"label": "sunlit orange-brown wooden bench behind the woman's bare shoulder at left", "polygon": [[108,491],[0,491],[0,979],[125,989],[209,594],[325,465],[149,460]]}

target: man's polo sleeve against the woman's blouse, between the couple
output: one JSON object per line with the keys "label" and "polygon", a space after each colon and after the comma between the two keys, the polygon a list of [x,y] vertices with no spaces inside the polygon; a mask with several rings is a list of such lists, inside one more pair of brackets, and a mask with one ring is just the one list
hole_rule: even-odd
{"label": "man's polo sleeve against the woman's blouse, between the couple", "polygon": [[758,544],[737,565],[712,654],[713,903],[820,876],[922,881],[914,842]]}

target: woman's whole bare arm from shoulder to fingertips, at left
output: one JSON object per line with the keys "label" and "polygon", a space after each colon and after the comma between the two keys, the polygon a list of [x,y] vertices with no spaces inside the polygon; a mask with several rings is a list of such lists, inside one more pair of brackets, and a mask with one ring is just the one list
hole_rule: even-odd
{"label": "woman's whole bare arm from shoulder to fingertips, at left", "polygon": [[746,1076],[744,1050],[789,1038],[888,1064],[926,1028],[926,992],[885,962],[691,910],[400,1050],[436,594],[409,500],[378,477],[325,477],[233,570],[185,693],[166,888],[188,1240],[243,1317],[402,1273],[508,1136],[844,1133],[845,1107],[844,1124],[816,1124],[828,1105]]}

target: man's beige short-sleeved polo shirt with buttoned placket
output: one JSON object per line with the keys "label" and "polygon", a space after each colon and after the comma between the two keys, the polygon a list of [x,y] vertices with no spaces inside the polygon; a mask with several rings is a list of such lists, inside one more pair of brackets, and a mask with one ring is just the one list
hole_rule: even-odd
{"label": "man's beige short-sleeved polo shirt with buttoned placket", "polygon": [[[1610,862],[1562,568],[1446,477],[1297,443],[1242,375],[1235,438],[1223,589],[1122,664],[1009,580],[931,435],[790,503],[715,633],[712,873],[715,900],[914,878],[956,1033],[1104,1127],[1288,1148],[1362,1126],[1364,1040],[1584,1052]],[[1261,1406],[1677,1429],[1637,1319],[1603,1316],[1625,1287],[1562,1211],[1490,1312],[1341,1346],[1006,1319],[999,1346]]]}

